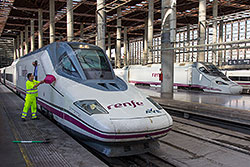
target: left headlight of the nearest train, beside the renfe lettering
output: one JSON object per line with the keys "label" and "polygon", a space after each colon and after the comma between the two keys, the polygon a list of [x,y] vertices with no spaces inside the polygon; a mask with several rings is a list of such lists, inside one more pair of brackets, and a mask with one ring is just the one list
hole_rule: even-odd
{"label": "left headlight of the nearest train, beside the renfe lettering", "polygon": [[75,102],[74,105],[89,115],[108,114],[108,112],[96,100],[81,100]]}

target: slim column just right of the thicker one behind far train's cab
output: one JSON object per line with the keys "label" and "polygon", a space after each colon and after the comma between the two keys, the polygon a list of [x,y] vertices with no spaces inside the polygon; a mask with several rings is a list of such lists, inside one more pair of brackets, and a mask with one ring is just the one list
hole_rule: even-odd
{"label": "slim column just right of the thicker one behind far train's cab", "polygon": [[[217,17],[218,17],[218,0],[213,1],[213,43],[217,43]],[[213,46],[213,49],[216,49],[216,46]],[[217,51],[212,51],[212,61],[213,64],[216,65],[216,56],[217,56]]]}

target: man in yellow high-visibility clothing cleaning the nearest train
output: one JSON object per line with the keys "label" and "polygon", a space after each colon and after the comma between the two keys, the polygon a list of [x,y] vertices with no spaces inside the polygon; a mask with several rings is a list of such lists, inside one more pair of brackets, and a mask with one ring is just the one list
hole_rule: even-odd
{"label": "man in yellow high-visibility clothing cleaning the nearest train", "polygon": [[29,108],[31,107],[31,113],[32,113],[32,120],[39,119],[37,117],[37,107],[36,107],[36,97],[38,96],[38,89],[37,87],[40,84],[44,83],[44,80],[39,82],[34,80],[34,75],[32,73],[29,73],[27,75],[27,82],[26,82],[26,97],[25,97],[25,104],[22,112],[22,121],[26,120],[27,113]]}

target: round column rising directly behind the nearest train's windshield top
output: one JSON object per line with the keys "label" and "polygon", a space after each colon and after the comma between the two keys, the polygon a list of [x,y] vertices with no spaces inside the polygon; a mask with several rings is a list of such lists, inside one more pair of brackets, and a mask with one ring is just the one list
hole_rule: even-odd
{"label": "round column rising directly behind the nearest train's windshield top", "polygon": [[106,14],[104,6],[105,0],[97,0],[97,45],[105,52]]}

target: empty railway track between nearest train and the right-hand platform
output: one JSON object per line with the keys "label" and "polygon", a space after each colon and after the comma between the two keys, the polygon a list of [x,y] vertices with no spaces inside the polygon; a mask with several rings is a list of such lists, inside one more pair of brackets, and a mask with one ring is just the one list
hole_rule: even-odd
{"label": "empty railway track between nearest train and the right-hand platform", "polygon": [[[185,113],[182,116],[185,117]],[[190,114],[188,119],[181,118],[180,113],[172,117],[175,123],[173,133],[250,155],[250,127],[246,125]]]}

